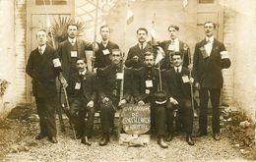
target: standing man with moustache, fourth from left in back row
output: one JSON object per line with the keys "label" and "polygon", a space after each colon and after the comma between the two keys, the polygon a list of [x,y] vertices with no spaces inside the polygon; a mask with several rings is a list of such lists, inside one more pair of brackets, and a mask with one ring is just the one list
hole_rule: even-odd
{"label": "standing man with moustache, fourth from left in back row", "polygon": [[130,68],[141,68],[144,66],[144,55],[147,51],[153,51],[152,46],[147,43],[148,30],[140,27],[137,29],[138,43],[128,51],[125,66]]}

